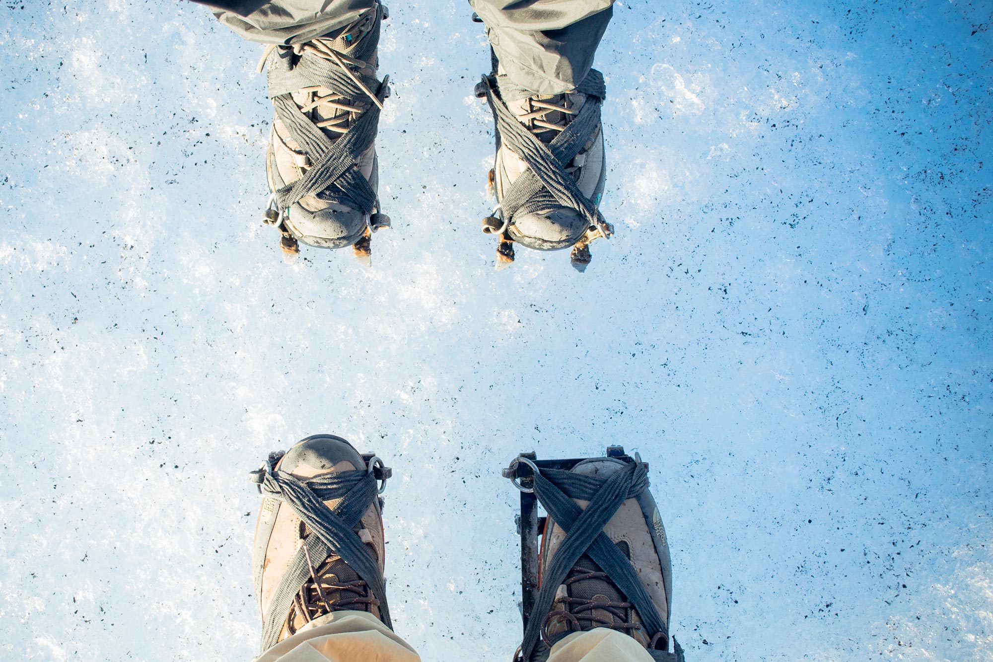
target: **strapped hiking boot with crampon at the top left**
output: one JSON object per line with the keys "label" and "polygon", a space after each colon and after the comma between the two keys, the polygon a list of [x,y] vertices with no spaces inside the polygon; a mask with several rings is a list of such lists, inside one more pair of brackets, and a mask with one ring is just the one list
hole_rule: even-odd
{"label": "strapped hiking boot with crampon at the top left", "polygon": [[359,244],[389,227],[379,211],[376,126],[388,77],[376,79],[377,5],[355,23],[294,46],[270,46],[259,63],[275,117],[266,150],[271,193],[265,222],[282,234],[288,254],[299,243],[319,248]]}

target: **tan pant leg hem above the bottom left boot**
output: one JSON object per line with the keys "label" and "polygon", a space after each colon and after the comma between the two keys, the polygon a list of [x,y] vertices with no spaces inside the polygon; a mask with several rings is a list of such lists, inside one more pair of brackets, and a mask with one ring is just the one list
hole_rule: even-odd
{"label": "tan pant leg hem above the bottom left boot", "polygon": [[420,662],[403,639],[365,611],[336,611],[283,639],[255,662]]}

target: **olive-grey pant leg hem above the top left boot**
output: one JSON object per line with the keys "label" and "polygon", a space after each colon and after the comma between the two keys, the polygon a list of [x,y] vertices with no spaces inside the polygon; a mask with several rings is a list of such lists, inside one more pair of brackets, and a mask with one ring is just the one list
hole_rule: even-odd
{"label": "olive-grey pant leg hem above the top left boot", "polygon": [[375,0],[273,0],[247,16],[216,8],[213,15],[250,42],[289,45],[344,28],[375,4]]}

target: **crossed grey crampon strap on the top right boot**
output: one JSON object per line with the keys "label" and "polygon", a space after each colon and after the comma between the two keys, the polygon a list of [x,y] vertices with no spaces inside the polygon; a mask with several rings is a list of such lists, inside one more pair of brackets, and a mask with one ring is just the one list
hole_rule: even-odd
{"label": "crossed grey crampon strap on the top right boot", "polygon": [[497,149],[505,144],[528,167],[503,193],[500,200],[503,218],[513,223],[513,217],[518,213],[530,214],[549,207],[567,207],[582,214],[591,227],[599,228],[604,237],[608,237],[610,227],[603,215],[565,171],[600,126],[600,106],[607,95],[603,75],[591,69],[579,83],[575,91],[587,95],[583,109],[547,145],[528,131],[506,107],[503,92],[510,89],[516,91],[513,83],[505,76],[491,75],[483,77],[483,85],[497,124]]}

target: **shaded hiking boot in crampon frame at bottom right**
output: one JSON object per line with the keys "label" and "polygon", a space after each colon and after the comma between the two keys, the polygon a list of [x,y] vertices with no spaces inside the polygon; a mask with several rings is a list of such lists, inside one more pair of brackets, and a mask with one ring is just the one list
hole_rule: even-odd
{"label": "shaded hiking boot in crampon frame at bottom right", "polygon": [[[522,454],[503,475],[533,492],[548,513],[528,525],[533,497],[521,499],[525,628],[515,660],[541,662],[570,633],[609,628],[631,636],[652,659],[682,662],[674,640],[668,652],[669,550],[638,454],[612,447],[606,457],[540,462]],[[524,527],[535,526],[540,549],[532,562]]]}

